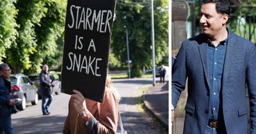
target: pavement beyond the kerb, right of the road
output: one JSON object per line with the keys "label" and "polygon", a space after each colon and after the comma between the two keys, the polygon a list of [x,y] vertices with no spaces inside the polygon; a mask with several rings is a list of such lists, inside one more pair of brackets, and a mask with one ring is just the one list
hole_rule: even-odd
{"label": "pavement beyond the kerb, right of the road", "polygon": [[155,86],[148,87],[141,96],[145,108],[166,130],[168,130],[168,86],[168,81],[164,84],[157,83]]}

